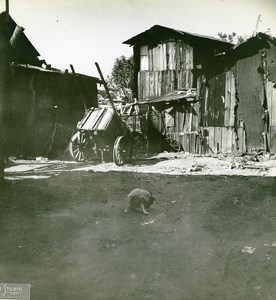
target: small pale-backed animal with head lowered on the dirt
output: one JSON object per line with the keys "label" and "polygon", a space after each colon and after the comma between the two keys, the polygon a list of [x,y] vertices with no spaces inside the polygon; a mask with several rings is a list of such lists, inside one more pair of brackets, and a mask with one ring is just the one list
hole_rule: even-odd
{"label": "small pale-backed animal with head lowered on the dirt", "polygon": [[143,214],[148,215],[147,209],[153,204],[155,198],[151,192],[143,189],[134,189],[127,195],[127,205],[125,213],[131,210],[141,211]]}

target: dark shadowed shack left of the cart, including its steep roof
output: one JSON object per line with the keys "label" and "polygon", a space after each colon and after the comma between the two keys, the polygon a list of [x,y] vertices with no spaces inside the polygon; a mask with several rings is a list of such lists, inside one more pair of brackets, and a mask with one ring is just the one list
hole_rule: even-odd
{"label": "dark shadowed shack left of the cart, including its steep roof", "polygon": [[[21,31],[20,34],[16,33]],[[52,68],[6,12],[0,38],[10,47],[4,102],[8,155],[57,157],[66,151],[85,108],[97,107],[99,79]]]}

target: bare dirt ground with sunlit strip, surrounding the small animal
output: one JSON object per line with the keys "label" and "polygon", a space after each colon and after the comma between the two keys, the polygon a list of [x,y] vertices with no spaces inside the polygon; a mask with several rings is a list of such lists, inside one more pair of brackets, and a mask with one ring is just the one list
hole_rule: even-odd
{"label": "bare dirt ground with sunlit strip, surrounding the small animal", "polygon": [[[15,160],[0,282],[31,299],[275,299],[275,160],[162,154],[134,165]],[[157,198],[124,213],[133,188]]]}

